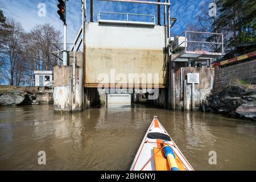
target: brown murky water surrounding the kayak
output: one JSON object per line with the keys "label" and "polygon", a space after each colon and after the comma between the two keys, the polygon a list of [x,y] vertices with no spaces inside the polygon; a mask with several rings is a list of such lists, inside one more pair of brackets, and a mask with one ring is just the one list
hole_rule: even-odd
{"label": "brown murky water surrounding the kayak", "polygon": [[0,107],[0,169],[127,170],[153,115],[196,170],[256,170],[253,122],[138,106],[61,114],[52,105]]}

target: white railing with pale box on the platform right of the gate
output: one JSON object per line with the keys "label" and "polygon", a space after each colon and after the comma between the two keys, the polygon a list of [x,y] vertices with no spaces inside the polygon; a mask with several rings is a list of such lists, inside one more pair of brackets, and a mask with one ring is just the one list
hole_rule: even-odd
{"label": "white railing with pale box on the platform right of the gate", "polygon": [[212,32],[184,31],[174,38],[173,52],[223,55],[223,34]]}

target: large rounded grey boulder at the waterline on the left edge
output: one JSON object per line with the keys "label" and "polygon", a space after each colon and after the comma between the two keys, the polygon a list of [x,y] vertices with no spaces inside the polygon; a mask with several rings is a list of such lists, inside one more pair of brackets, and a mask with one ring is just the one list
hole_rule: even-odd
{"label": "large rounded grey boulder at the waterline on the left edge", "polygon": [[0,106],[18,105],[24,101],[24,93],[20,90],[11,90],[0,96]]}

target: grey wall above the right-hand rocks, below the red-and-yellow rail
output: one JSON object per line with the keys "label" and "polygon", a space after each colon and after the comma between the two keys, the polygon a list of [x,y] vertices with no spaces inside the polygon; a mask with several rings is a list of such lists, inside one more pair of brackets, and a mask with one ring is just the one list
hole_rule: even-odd
{"label": "grey wall above the right-hand rocks, below the red-and-yellow rail", "polygon": [[232,81],[243,80],[256,84],[256,60],[215,68],[213,91],[220,91]]}

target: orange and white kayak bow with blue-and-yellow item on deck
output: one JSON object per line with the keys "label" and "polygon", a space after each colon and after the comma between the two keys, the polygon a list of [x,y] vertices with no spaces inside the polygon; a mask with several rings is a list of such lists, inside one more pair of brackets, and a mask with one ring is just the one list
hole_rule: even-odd
{"label": "orange and white kayak bow with blue-and-yellow item on deck", "polygon": [[193,171],[155,116],[134,158],[131,171]]}

